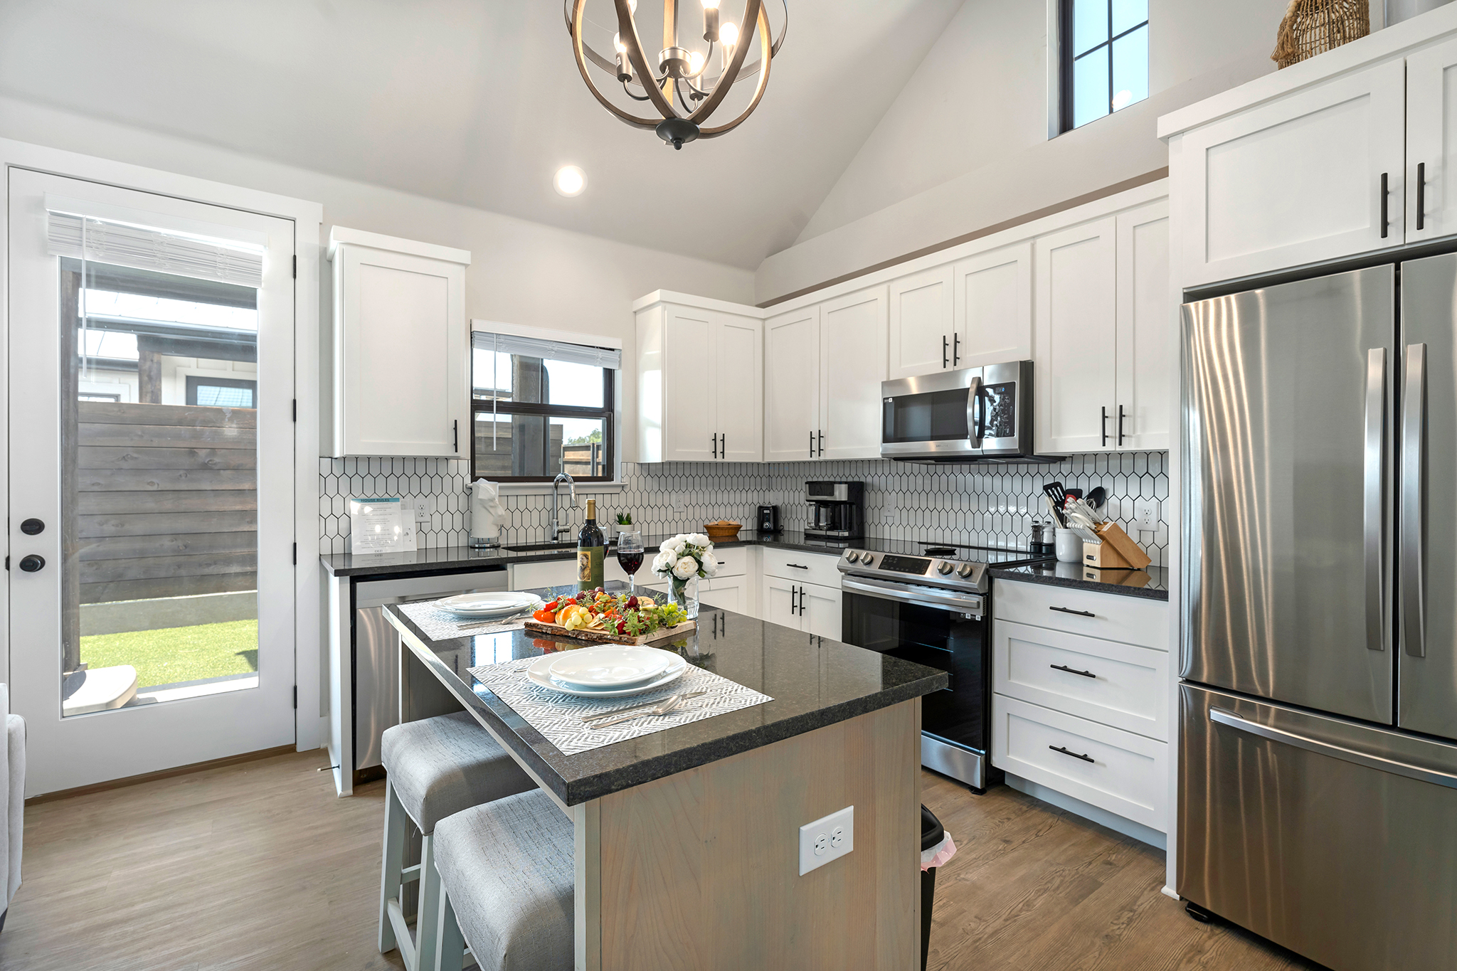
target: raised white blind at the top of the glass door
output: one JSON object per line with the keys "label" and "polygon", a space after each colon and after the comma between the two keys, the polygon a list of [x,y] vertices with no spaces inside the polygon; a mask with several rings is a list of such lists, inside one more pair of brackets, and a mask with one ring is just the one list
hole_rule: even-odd
{"label": "raised white blind at the top of the glass door", "polygon": [[54,210],[47,213],[47,240],[52,256],[255,290],[264,285],[264,247],[254,243],[172,233]]}

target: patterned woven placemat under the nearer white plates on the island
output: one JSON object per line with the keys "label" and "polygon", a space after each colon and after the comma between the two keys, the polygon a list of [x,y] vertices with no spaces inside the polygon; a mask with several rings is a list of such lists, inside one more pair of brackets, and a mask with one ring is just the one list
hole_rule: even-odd
{"label": "patterned woven placemat under the nearer white plates on the island", "polygon": [[[774,699],[761,694],[750,687],[745,687],[712,671],[696,668],[692,664],[683,671],[683,677],[672,684],[631,694],[628,697],[576,697],[562,694],[551,689],[541,687],[526,678],[526,668],[536,658],[516,658],[501,664],[471,668],[481,684],[491,689],[497,697],[510,705],[517,715],[525,718],[532,728],[539,731],[546,741],[555,745],[564,756],[592,751],[603,745],[613,745],[629,738],[651,735],[679,725],[701,722],[715,715],[727,715],[743,708],[763,705]],[[644,716],[632,722],[622,722],[610,728],[592,728],[583,724],[587,715],[602,715],[616,712],[634,705],[647,702],[661,702],[679,691],[705,691],[698,697],[691,697],[683,705],[667,715]],[[610,719],[605,719],[610,721]]]}

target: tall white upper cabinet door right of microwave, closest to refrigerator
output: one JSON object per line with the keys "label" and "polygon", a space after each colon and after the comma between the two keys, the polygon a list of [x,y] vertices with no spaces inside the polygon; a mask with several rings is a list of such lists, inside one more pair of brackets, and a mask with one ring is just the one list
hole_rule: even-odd
{"label": "tall white upper cabinet door right of microwave, closest to refrigerator", "polygon": [[1118,418],[1123,450],[1169,448],[1177,317],[1169,278],[1169,201],[1118,217]]}

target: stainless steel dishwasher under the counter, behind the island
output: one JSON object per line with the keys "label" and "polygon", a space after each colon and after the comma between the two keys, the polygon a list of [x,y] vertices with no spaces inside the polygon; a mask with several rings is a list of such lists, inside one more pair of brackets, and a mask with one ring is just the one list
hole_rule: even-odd
{"label": "stainless steel dishwasher under the counter, behind the island", "polygon": [[382,779],[379,738],[399,724],[399,632],[386,604],[506,590],[506,568],[354,584],[354,785]]}

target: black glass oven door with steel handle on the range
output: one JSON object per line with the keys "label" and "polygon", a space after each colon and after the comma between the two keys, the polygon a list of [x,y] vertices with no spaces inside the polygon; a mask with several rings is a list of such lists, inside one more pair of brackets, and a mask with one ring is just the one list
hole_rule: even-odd
{"label": "black glass oven door with steel handle on the range", "polygon": [[[905,588],[905,600],[892,592]],[[921,597],[916,592],[924,591]],[[983,597],[842,576],[841,639],[946,671],[947,687],[921,699],[921,731],[982,756],[991,731],[991,657]],[[940,606],[937,600],[959,601]],[[921,603],[914,603],[919,600]]]}

